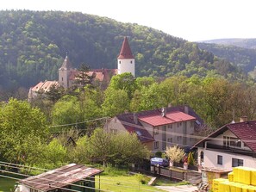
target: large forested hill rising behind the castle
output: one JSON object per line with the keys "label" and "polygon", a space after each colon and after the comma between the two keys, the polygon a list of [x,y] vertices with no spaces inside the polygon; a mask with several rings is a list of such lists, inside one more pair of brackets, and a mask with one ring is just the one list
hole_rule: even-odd
{"label": "large forested hill rising behind the castle", "polygon": [[57,79],[66,52],[72,64],[116,68],[124,36],[136,59],[137,76],[218,73],[240,77],[212,53],[153,28],[96,15],[60,11],[0,11],[0,88],[29,87]]}

